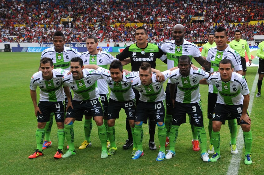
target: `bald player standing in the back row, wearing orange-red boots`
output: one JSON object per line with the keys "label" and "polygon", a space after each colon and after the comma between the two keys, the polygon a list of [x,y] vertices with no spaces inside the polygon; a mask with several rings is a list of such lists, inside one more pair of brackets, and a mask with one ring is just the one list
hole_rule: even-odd
{"label": "bald player standing in the back row, wearing orange-red boots", "polygon": [[[192,58],[194,58],[199,64],[201,64],[203,67],[209,69],[209,63],[201,56],[201,52],[198,49],[197,45],[190,43],[184,39],[185,35],[185,29],[182,24],[176,24],[172,28],[172,35],[173,39],[172,41],[165,42],[161,45],[161,49],[164,53],[167,55],[167,63],[168,63],[168,69],[171,69],[172,67],[176,67],[178,65],[178,58],[181,55],[187,55]],[[166,103],[167,103],[167,113],[165,117],[165,125],[167,128],[167,131],[169,131],[170,125],[172,123],[172,104],[170,99],[170,80],[168,80],[168,84],[166,86]],[[174,93],[176,95],[176,92]],[[192,134],[193,134],[193,151],[199,151],[199,141],[197,137],[197,132],[195,131],[195,128],[193,125],[192,127]],[[169,138],[166,138],[166,146],[169,143]]]}

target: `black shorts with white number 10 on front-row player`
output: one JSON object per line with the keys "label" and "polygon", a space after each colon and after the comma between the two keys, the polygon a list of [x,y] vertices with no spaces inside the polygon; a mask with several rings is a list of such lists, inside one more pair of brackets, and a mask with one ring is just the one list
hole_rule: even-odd
{"label": "black shorts with white number 10 on front-row player", "polygon": [[149,114],[153,114],[156,122],[164,122],[166,115],[166,100],[157,102],[144,102],[137,103],[135,121],[144,121]]}

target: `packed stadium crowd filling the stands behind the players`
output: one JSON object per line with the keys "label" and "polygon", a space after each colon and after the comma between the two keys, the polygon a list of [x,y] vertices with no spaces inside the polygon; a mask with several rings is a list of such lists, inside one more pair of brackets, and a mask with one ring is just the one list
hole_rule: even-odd
{"label": "packed stadium crowd filling the stands behind the players", "polygon": [[[204,20],[194,22],[194,16]],[[73,21],[62,23],[61,18]],[[244,0],[2,1],[0,42],[52,42],[56,30],[64,31],[66,42],[84,42],[89,34],[101,42],[134,41],[138,26],[126,27],[127,23],[144,23],[149,42],[171,40],[177,23],[185,25],[191,42],[207,41],[206,34],[218,25],[226,28],[229,40],[236,29],[243,31],[243,39],[253,40],[254,35],[264,34],[263,23],[249,22],[263,19],[263,3]]]}

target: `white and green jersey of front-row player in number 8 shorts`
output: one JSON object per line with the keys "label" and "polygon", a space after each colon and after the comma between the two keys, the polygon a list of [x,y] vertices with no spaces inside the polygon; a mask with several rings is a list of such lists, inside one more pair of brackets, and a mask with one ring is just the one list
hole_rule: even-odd
{"label": "white and green jersey of front-row player in number 8 shorts", "polygon": [[219,72],[212,74],[206,81],[217,88],[216,102],[220,104],[241,105],[244,100],[243,95],[249,94],[245,78],[236,72],[232,73],[231,80],[228,82],[221,80]]}

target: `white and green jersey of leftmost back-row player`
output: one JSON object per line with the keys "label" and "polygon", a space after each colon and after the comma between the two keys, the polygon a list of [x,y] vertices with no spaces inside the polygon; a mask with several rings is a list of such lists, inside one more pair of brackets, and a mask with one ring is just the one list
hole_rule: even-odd
{"label": "white and green jersey of leftmost back-row player", "polygon": [[43,50],[41,59],[44,57],[50,58],[52,59],[54,68],[70,70],[71,59],[74,57],[80,57],[80,55],[81,53],[71,47],[64,46],[64,50],[61,53],[56,52],[54,47],[50,47]]}

